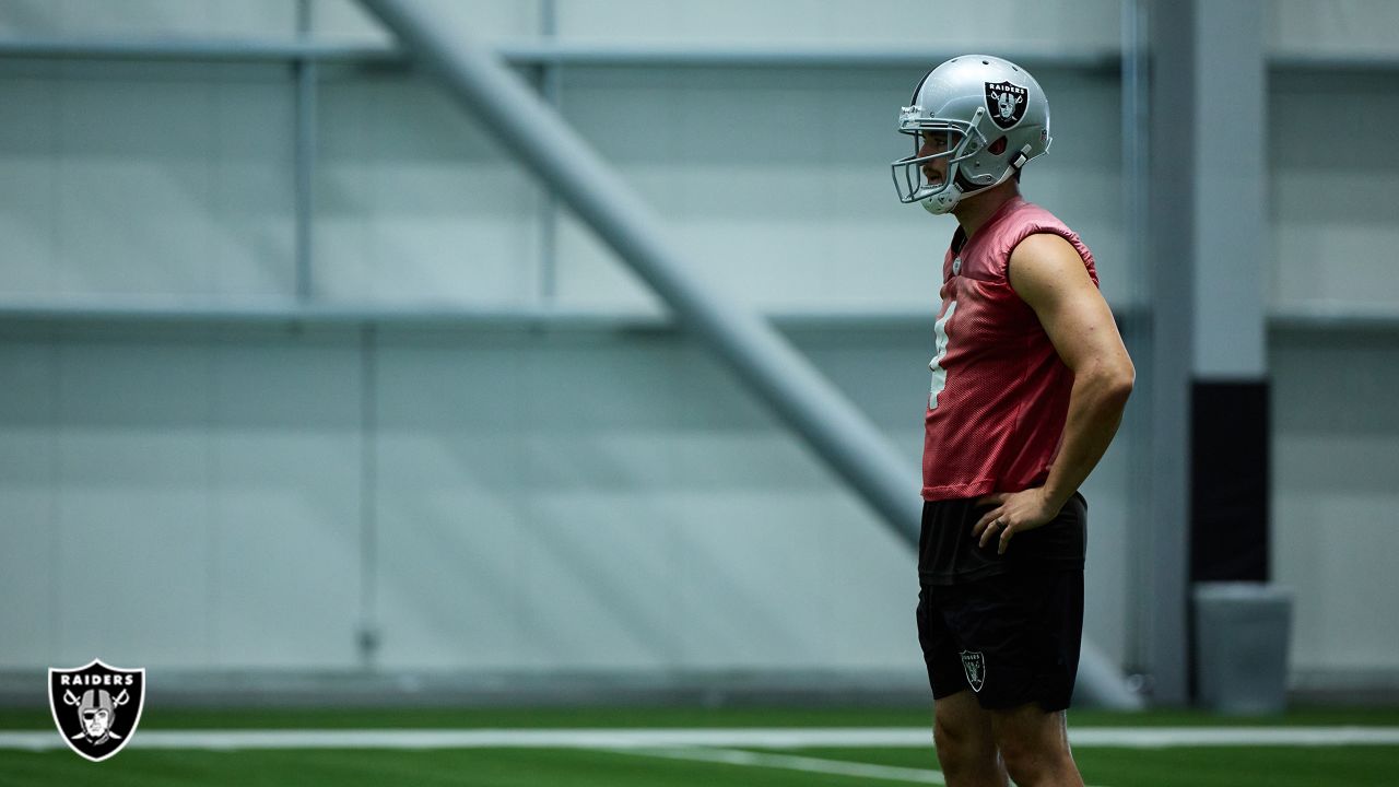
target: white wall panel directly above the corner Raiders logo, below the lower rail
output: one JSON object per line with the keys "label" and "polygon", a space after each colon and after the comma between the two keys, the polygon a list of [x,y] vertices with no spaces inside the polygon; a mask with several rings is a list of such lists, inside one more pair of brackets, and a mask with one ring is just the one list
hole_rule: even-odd
{"label": "white wall panel directly above the corner Raiders logo, below the lower rail", "polygon": [[197,343],[59,351],[59,662],[207,662],[213,367]]}

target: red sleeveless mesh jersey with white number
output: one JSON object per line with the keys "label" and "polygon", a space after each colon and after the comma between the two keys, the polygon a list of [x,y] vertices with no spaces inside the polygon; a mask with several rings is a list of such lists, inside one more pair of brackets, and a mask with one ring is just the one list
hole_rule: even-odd
{"label": "red sleeveless mesh jersey with white number", "polygon": [[1051,232],[1073,244],[1098,283],[1093,252],[1048,210],[1016,196],[943,260],[937,350],[923,431],[923,499],[1039,486],[1059,451],[1073,372],[1039,318],[1010,287],[1010,252]]}

